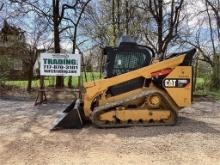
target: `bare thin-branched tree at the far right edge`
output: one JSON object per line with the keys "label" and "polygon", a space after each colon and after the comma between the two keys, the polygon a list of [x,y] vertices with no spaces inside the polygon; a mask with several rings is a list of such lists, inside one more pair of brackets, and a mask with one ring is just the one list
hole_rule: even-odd
{"label": "bare thin-branched tree at the far right edge", "polygon": [[[219,0],[201,0],[203,7],[198,9],[195,17],[199,20],[195,26],[191,26],[188,29],[191,33],[179,34],[183,43],[192,45],[199,51],[199,61],[208,63],[212,68],[212,74],[210,77],[210,87],[220,88],[220,59],[219,59]],[[207,29],[204,34],[204,27]],[[185,31],[187,27],[185,26]],[[205,35],[205,38],[204,38]]]}

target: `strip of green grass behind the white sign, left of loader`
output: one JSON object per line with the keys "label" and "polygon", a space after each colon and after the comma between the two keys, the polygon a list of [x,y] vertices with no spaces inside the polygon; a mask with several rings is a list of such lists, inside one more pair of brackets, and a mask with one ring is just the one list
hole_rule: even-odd
{"label": "strip of green grass behind the white sign, left of loader", "polygon": [[[86,77],[87,77],[87,81],[93,81],[93,77],[94,77],[94,80],[97,80],[99,79],[99,73],[98,72],[87,72],[86,73]],[[82,80],[83,82],[85,82],[85,73],[82,73],[81,74],[81,77],[82,77]],[[55,86],[55,77],[45,77],[44,79],[44,83],[45,83],[45,86],[48,87],[48,86]],[[27,80],[6,80],[5,81],[5,85],[7,86],[14,86],[14,87],[17,87],[17,88],[26,88],[27,87]],[[67,86],[68,84],[68,77],[65,77],[64,78],[64,84],[65,86]],[[78,84],[78,77],[73,77],[72,78],[72,85],[73,86],[77,86]],[[32,87],[33,88],[38,88],[39,87],[39,80],[33,80],[32,81]]]}

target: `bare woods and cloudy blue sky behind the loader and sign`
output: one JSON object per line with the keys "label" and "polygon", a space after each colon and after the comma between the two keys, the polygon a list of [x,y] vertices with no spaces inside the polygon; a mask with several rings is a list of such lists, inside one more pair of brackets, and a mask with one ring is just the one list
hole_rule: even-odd
{"label": "bare woods and cloudy blue sky behind the loader and sign", "polygon": [[[24,31],[28,91],[40,50],[83,52],[87,71],[98,71],[102,48],[116,46],[122,35],[158,56],[196,48],[196,88],[219,90],[219,11],[219,0],[1,0],[0,27],[7,21]],[[63,77],[55,81],[64,86]]]}

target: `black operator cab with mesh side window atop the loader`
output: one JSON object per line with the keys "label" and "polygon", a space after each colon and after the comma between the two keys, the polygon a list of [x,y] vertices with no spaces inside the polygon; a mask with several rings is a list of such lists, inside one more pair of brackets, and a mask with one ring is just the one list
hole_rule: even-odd
{"label": "black operator cab with mesh side window atop the loader", "polygon": [[106,47],[104,55],[107,55],[105,78],[110,78],[150,65],[154,51],[147,46],[138,45],[129,36],[123,36],[119,46]]}

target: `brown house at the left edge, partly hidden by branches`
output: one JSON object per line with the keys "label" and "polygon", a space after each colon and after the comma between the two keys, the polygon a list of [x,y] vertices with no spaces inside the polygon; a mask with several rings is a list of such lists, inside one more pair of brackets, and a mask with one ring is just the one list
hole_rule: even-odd
{"label": "brown house at the left edge, partly hidden by branches", "polygon": [[11,79],[25,78],[27,56],[24,31],[4,21],[0,30],[0,72]]}

